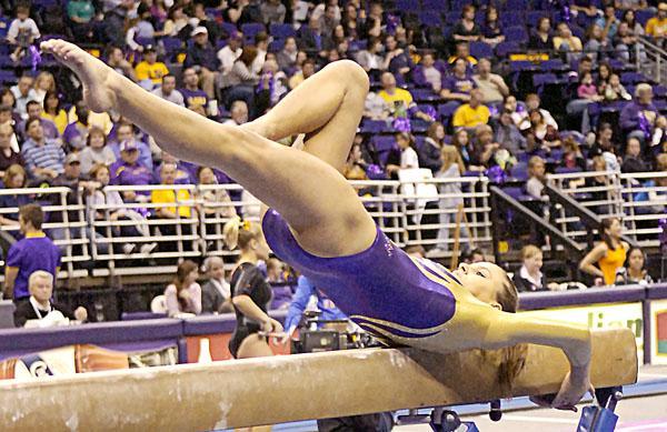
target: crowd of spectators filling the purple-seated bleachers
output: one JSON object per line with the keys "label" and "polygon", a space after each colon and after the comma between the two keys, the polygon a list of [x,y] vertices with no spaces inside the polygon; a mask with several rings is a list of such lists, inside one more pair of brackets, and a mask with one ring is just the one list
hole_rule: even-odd
{"label": "crowd of spectators filling the purple-seated bleachers", "polygon": [[[645,40],[664,44],[664,2],[2,0],[0,9],[6,189],[64,185],[97,204],[175,203],[189,192],[101,189],[231,181],[161,152],[122,113],[91,112],[77,79],[40,56],[48,38],[76,41],[158,97],[231,124],[270,110],[327,63],[352,59],[371,91],[350,180],[415,168],[442,179],[484,173],[525,182],[520,194],[541,200],[549,172],[667,170],[667,87],[637,69]],[[2,207],[27,199],[0,195]],[[150,217],[196,211],[165,207]],[[123,235],[137,238],[147,215],[113,218],[135,221]],[[2,232],[6,252],[16,240]],[[156,244],[123,245],[136,248]]]}

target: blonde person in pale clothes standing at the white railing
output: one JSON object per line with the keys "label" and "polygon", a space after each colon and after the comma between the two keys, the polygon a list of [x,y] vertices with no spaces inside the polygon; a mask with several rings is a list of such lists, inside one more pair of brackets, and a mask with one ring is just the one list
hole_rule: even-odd
{"label": "blonde person in pale clothes standing at the white railing", "polygon": [[[440,180],[459,179],[466,171],[464,161],[454,145],[442,147],[441,163],[442,167],[436,174],[436,178]],[[459,208],[464,205],[460,182],[448,181],[439,183],[438,192],[441,195],[438,202],[438,208],[440,209],[440,229],[438,230],[438,242],[436,243],[436,248],[429,251],[429,255],[439,255],[449,249],[449,225],[456,221],[456,214],[459,211]],[[465,230],[464,224],[460,227],[460,238],[468,238],[468,233]]]}

